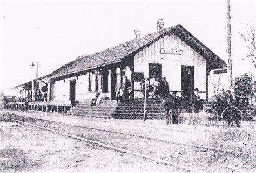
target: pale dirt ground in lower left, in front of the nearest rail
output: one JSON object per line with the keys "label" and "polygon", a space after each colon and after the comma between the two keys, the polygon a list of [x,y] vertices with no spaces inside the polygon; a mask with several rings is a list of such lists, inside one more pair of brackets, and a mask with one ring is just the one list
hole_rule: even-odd
{"label": "pale dirt ground in lower left, in front of the nearest rail", "polygon": [[0,121],[0,139],[0,171],[4,172],[177,170],[13,122]]}

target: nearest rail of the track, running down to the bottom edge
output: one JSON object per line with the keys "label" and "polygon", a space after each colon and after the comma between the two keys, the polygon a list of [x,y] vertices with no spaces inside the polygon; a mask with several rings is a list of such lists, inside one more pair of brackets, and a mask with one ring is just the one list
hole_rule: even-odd
{"label": "nearest rail of the track, running down to the bottom edge", "polygon": [[[22,117],[24,117],[24,116],[22,116]],[[24,118],[28,118],[28,117],[24,117]],[[29,118],[31,118],[31,117],[29,117]],[[192,167],[187,167],[186,165],[183,165],[183,164],[178,164],[178,163],[170,162],[170,161],[167,161],[167,160],[164,160],[164,159],[161,159],[161,158],[153,157],[153,156],[150,156],[150,155],[146,155],[146,154],[142,154],[142,153],[138,153],[138,152],[133,152],[131,150],[124,149],[124,148],[120,148],[120,147],[116,147],[116,146],[112,146],[112,145],[107,145],[106,143],[98,142],[96,140],[87,139],[87,138],[84,138],[84,137],[79,136],[79,135],[73,135],[73,134],[70,134],[70,133],[58,131],[54,128],[48,128],[48,127],[45,127],[45,126],[39,126],[39,125],[35,125],[35,124],[29,123],[29,122],[24,122],[24,121],[21,121],[21,120],[17,120],[17,119],[14,119],[13,117],[8,118],[8,117],[3,116],[3,119],[18,122],[18,123],[24,124],[24,125],[29,125],[29,126],[41,128],[41,129],[44,129],[46,131],[55,132],[55,133],[58,133],[58,134],[61,134],[61,135],[64,135],[64,136],[68,136],[69,138],[73,138],[73,139],[77,139],[77,140],[85,141],[85,142],[90,142],[90,143],[93,143],[93,144],[98,145],[98,146],[113,149],[113,150],[116,150],[116,151],[122,152],[122,153],[132,154],[132,155],[135,155],[135,156],[138,156],[138,157],[145,158],[147,160],[156,161],[156,162],[166,164],[166,165],[171,165],[171,166],[179,168],[181,170],[192,171],[192,172],[204,172],[200,169],[194,169]],[[43,119],[36,119],[36,118],[31,118],[31,120],[32,119],[40,120],[40,121],[50,121],[50,120],[43,120]],[[57,123],[64,124],[62,122],[57,122]],[[69,124],[65,124],[65,125],[69,125]],[[75,126],[75,125],[72,125],[72,126]]]}

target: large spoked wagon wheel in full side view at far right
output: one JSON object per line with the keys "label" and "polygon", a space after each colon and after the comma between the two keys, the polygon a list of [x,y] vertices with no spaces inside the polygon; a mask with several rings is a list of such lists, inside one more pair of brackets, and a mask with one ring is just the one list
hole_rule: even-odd
{"label": "large spoked wagon wheel in full side view at far right", "polygon": [[[234,106],[226,107],[221,113],[221,121],[224,125],[228,125],[228,121],[230,121],[230,125],[235,123],[235,119],[238,118],[240,124],[243,119],[242,111]],[[237,126],[237,124],[236,124]]]}

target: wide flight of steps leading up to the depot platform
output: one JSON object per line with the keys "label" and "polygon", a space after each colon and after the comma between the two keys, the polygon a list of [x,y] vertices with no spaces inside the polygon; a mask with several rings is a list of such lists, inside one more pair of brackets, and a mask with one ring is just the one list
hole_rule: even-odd
{"label": "wide flight of steps leading up to the depot platform", "polygon": [[[116,100],[105,100],[103,103],[91,106],[89,101],[79,102],[70,110],[77,116],[93,116],[102,118],[143,118],[143,100],[136,100],[130,104],[118,104]],[[147,118],[163,118],[164,108],[160,100],[148,100],[146,107]]]}

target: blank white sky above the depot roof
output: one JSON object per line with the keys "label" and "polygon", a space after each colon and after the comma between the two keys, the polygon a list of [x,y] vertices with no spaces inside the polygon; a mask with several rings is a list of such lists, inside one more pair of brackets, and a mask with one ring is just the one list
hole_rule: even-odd
{"label": "blank white sky above the depot roof", "polygon": [[[183,25],[227,61],[227,1],[1,1],[0,91],[36,77],[30,64],[38,62],[38,77],[76,57],[92,54],[156,31]],[[255,23],[254,1],[231,0],[233,74],[252,73],[240,34]],[[255,25],[254,25],[255,26]],[[250,71],[251,70],[251,71]]]}

